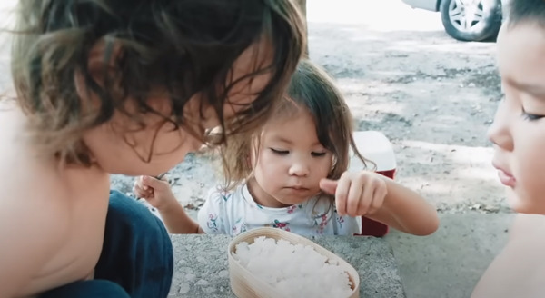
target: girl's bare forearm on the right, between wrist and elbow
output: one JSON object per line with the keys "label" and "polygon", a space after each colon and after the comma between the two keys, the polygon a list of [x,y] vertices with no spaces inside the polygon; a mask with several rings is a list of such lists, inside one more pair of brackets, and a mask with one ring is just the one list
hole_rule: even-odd
{"label": "girl's bare forearm on the right, between wrist and elbow", "polygon": [[435,208],[420,194],[384,177],[388,194],[377,212],[365,215],[373,220],[415,235],[434,233],[439,227]]}

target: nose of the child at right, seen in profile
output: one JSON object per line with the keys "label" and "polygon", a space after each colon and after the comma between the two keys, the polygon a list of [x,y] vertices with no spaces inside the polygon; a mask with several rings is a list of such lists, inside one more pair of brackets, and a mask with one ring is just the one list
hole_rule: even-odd
{"label": "nose of the child at right, seen in profile", "polygon": [[513,139],[510,133],[512,116],[509,111],[510,108],[505,102],[500,103],[496,115],[494,116],[494,122],[490,124],[487,133],[490,142],[506,151],[512,151],[514,149]]}

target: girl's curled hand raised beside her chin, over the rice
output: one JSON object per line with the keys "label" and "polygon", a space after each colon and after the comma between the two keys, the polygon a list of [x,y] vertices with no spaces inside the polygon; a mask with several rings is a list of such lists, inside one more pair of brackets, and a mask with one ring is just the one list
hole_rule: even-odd
{"label": "girl's curled hand raised beside her chin, over the rice", "polygon": [[384,179],[374,172],[345,172],[337,181],[322,179],[320,188],[335,195],[337,213],[355,217],[373,214],[381,208],[388,194]]}

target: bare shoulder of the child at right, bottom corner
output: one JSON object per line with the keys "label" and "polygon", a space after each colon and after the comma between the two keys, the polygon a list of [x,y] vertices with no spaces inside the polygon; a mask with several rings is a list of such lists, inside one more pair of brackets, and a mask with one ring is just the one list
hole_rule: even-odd
{"label": "bare shoulder of the child at right, bottom corner", "polygon": [[518,215],[510,240],[482,275],[472,297],[545,296],[545,216]]}

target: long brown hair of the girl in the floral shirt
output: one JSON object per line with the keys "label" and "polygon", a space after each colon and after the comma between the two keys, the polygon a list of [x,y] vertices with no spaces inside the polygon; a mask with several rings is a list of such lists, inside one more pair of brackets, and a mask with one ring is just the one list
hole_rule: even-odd
{"label": "long brown hair of the girl in the floral shirt", "polygon": [[[318,141],[333,155],[330,179],[339,179],[349,166],[350,150],[365,167],[374,164],[358,151],[353,139],[353,119],[350,109],[332,77],[310,60],[300,61],[292,81],[272,117],[291,117],[303,109],[311,114],[316,125]],[[224,176],[227,190],[231,190],[253,174],[250,155],[259,141],[260,131],[252,137],[237,137],[223,148]]]}

